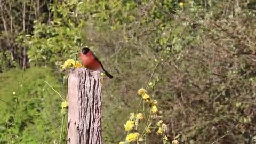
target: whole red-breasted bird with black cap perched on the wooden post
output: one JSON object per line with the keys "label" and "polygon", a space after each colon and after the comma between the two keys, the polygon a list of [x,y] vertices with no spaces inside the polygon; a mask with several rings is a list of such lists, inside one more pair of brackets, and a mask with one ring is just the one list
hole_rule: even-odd
{"label": "whole red-breasted bird with black cap perched on the wooden post", "polygon": [[90,70],[99,70],[100,72],[104,73],[107,77],[113,78],[103,67],[100,60],[93,54],[93,52],[88,48],[84,47],[82,52],[79,53],[79,58],[81,59],[84,67]]}

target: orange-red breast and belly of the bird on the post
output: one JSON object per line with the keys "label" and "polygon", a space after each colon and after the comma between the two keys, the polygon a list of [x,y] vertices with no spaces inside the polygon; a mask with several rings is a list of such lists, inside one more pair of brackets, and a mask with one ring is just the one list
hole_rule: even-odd
{"label": "orange-red breast and belly of the bird on the post", "polygon": [[83,54],[82,52],[79,54],[79,57],[87,69],[90,70],[100,70],[101,65],[98,62],[97,58],[93,55],[92,51],[87,52],[86,54]]}

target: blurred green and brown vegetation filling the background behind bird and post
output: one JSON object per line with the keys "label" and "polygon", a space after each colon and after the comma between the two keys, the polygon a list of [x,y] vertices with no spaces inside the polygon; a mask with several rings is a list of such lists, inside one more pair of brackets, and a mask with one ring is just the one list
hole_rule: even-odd
{"label": "blurred green and brown vegetation filling the background behind bird and post", "polygon": [[151,93],[170,141],[256,143],[255,14],[255,0],[0,0],[0,143],[58,143],[61,99],[44,81],[66,95],[59,65],[81,45],[114,75],[104,143],[124,140],[162,50]]}

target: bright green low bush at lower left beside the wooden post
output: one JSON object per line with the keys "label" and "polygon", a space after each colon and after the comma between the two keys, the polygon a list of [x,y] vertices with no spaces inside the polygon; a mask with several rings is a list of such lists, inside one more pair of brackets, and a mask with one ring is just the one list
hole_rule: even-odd
{"label": "bright green low bush at lower left beside the wooden post", "polygon": [[[61,115],[60,98],[44,82],[46,79],[60,91],[60,84],[49,68],[34,67],[25,73],[12,70],[0,75],[0,143],[5,143],[12,129],[13,141],[17,143],[50,143],[58,140]],[[22,85],[18,91],[18,87]],[[15,95],[13,95],[15,92]],[[17,114],[12,117],[17,102]]]}

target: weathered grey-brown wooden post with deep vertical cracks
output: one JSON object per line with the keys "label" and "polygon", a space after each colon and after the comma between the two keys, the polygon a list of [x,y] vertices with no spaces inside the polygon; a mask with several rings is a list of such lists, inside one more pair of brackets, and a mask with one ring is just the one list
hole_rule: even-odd
{"label": "weathered grey-brown wooden post with deep vertical cracks", "polygon": [[77,68],[68,78],[68,143],[102,143],[101,76]]}

